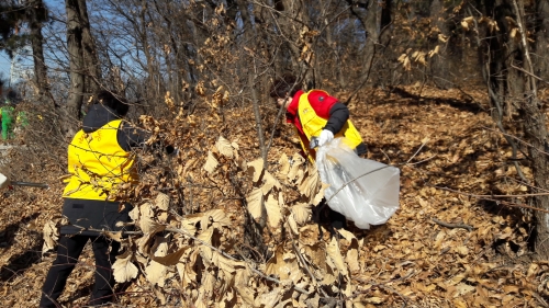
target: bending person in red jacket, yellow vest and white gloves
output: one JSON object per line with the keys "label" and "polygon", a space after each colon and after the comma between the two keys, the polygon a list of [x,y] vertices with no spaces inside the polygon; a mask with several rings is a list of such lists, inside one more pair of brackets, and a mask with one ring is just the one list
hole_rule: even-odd
{"label": "bending person in red jacket, yellow vest and white gloves", "polygon": [[[355,149],[358,156],[363,157],[367,153],[360,133],[349,119],[349,109],[326,91],[304,92],[298,79],[287,73],[273,82],[269,94],[280,107],[285,109],[287,122],[293,124],[300,137],[302,155],[311,162],[315,160],[315,150],[310,147],[313,137],[317,138],[318,146],[344,137],[344,142]],[[324,202],[318,208],[324,207]],[[345,216],[329,207],[328,219],[333,228],[347,226]]]}

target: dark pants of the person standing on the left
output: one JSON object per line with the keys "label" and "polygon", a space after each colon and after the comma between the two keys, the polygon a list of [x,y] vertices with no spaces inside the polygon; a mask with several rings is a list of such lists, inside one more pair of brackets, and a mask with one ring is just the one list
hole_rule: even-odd
{"label": "dark pants of the person standing on the left", "polygon": [[[60,307],[60,305],[56,306],[55,303],[61,295],[67,278],[75,269],[78,256],[80,256],[88,240],[92,242],[96,256],[96,283],[89,305],[101,305],[112,300],[114,276],[111,265],[115,261],[120,243],[102,236],[61,236],[57,248],[57,259],[49,269],[42,288],[40,307]],[[110,252],[109,248],[111,248]]]}

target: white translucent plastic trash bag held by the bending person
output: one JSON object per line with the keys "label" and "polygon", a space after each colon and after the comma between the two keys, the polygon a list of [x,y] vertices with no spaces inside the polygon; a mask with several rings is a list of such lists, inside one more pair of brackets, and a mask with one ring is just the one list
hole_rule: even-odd
{"label": "white translucent plastic trash bag held by the bending person", "polygon": [[328,206],[358,228],[385,224],[399,209],[399,168],[358,157],[343,138],[317,148],[316,168],[329,184],[324,191]]}

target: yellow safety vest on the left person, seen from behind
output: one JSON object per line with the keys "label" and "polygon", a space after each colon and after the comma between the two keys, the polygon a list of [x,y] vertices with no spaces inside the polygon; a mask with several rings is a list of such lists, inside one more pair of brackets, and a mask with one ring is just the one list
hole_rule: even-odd
{"label": "yellow safety vest on the left person, seen from behind", "polygon": [[134,156],[119,145],[122,119],[111,121],[93,133],[80,129],[68,146],[67,186],[63,197],[114,201],[117,186],[138,180]]}

